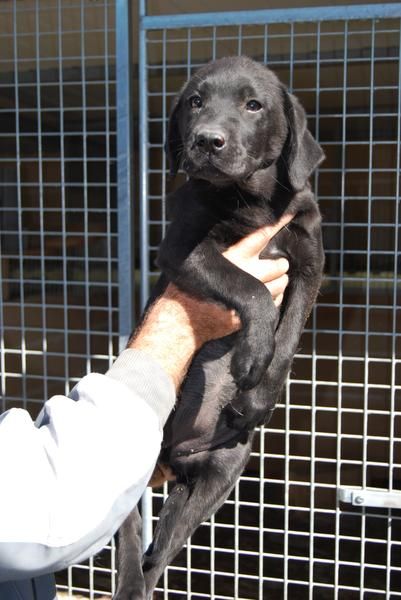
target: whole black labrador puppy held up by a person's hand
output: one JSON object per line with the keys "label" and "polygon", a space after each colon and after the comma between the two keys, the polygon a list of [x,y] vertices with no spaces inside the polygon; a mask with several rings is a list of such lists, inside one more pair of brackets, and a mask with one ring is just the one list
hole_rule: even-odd
{"label": "whole black labrador puppy held up by a person's hand", "polygon": [[[191,365],[160,455],[176,485],[144,557],[137,510],[120,529],[118,600],[151,597],[188,536],[229,495],[254,429],[270,418],[286,380],[324,262],[308,183],[323,152],[300,103],[268,68],[230,57],[199,69],[176,99],[167,149],[172,173],[182,167],[189,179],[168,200],[172,220],[153,298],[173,281],[234,308],[242,329],[206,344]],[[284,213],[292,221],[262,253],[290,263],[279,310],[265,286],[222,250]]]}

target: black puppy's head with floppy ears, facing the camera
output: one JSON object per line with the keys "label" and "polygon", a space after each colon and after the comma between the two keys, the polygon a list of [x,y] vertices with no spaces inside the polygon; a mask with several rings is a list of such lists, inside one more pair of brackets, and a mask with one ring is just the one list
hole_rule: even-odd
{"label": "black puppy's head with floppy ears, facing the camera", "polygon": [[173,174],[181,166],[216,185],[250,181],[281,159],[295,190],[323,158],[296,98],[246,57],[209,63],[190,79],[173,106],[167,149]]}

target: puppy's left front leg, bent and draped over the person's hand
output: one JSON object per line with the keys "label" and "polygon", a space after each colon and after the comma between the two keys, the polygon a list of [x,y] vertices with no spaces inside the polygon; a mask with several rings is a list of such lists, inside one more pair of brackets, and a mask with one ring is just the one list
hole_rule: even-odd
{"label": "puppy's left front leg, bent and draped over the person's hand", "polygon": [[166,246],[164,243],[159,256],[160,267],[183,291],[236,310],[242,328],[231,372],[240,389],[253,388],[274,353],[279,312],[270,293],[258,279],[227,260],[214,240],[204,239],[187,256],[183,256],[183,251],[178,244]]}

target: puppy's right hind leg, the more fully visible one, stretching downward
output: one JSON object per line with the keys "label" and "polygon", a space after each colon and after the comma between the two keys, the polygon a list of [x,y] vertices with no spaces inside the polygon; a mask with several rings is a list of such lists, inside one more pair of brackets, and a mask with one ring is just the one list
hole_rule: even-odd
{"label": "puppy's right hind leg, the more fully visible one, stretching downward", "polygon": [[173,488],[160,512],[153,543],[144,556],[148,599],[187,538],[226,500],[248,461],[252,437],[251,434],[246,443],[238,442],[234,448],[217,448],[188,457],[197,460],[197,476],[190,483],[181,481]]}

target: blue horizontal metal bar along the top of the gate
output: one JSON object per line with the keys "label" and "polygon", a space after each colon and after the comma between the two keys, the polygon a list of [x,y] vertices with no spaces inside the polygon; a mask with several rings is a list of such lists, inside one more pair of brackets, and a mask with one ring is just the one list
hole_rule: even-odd
{"label": "blue horizontal metal bar along the top of the gate", "polygon": [[219,27],[257,25],[258,23],[305,23],[337,19],[389,19],[401,16],[401,3],[355,4],[352,6],[311,6],[235,12],[187,13],[147,16],[141,12],[141,30],[177,29],[180,27]]}

